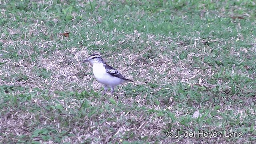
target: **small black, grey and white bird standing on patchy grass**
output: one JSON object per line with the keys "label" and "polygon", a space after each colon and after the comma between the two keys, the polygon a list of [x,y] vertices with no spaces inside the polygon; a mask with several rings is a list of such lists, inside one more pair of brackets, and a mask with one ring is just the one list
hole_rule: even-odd
{"label": "small black, grey and white bird standing on patchy grass", "polygon": [[90,62],[92,64],[92,72],[96,80],[98,80],[98,82],[104,86],[103,95],[108,90],[108,87],[111,88],[111,95],[113,95],[114,87],[118,84],[121,84],[124,81],[133,82],[132,80],[124,78],[124,76],[122,76],[118,70],[107,65],[98,54],[90,55],[88,59],[84,60],[83,62]]}

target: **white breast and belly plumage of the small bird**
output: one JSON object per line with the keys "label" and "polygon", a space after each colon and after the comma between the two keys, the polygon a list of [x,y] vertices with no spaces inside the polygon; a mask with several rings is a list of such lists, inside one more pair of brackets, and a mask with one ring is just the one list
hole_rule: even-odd
{"label": "white breast and belly plumage of the small bird", "polygon": [[110,74],[108,74],[106,72],[106,69],[103,64],[98,64],[98,63],[93,64],[92,72],[93,72],[96,80],[98,80],[98,82],[100,82],[106,86],[115,87],[118,84],[124,82],[123,79],[117,78],[117,77],[114,77],[114,76],[111,76]]}

